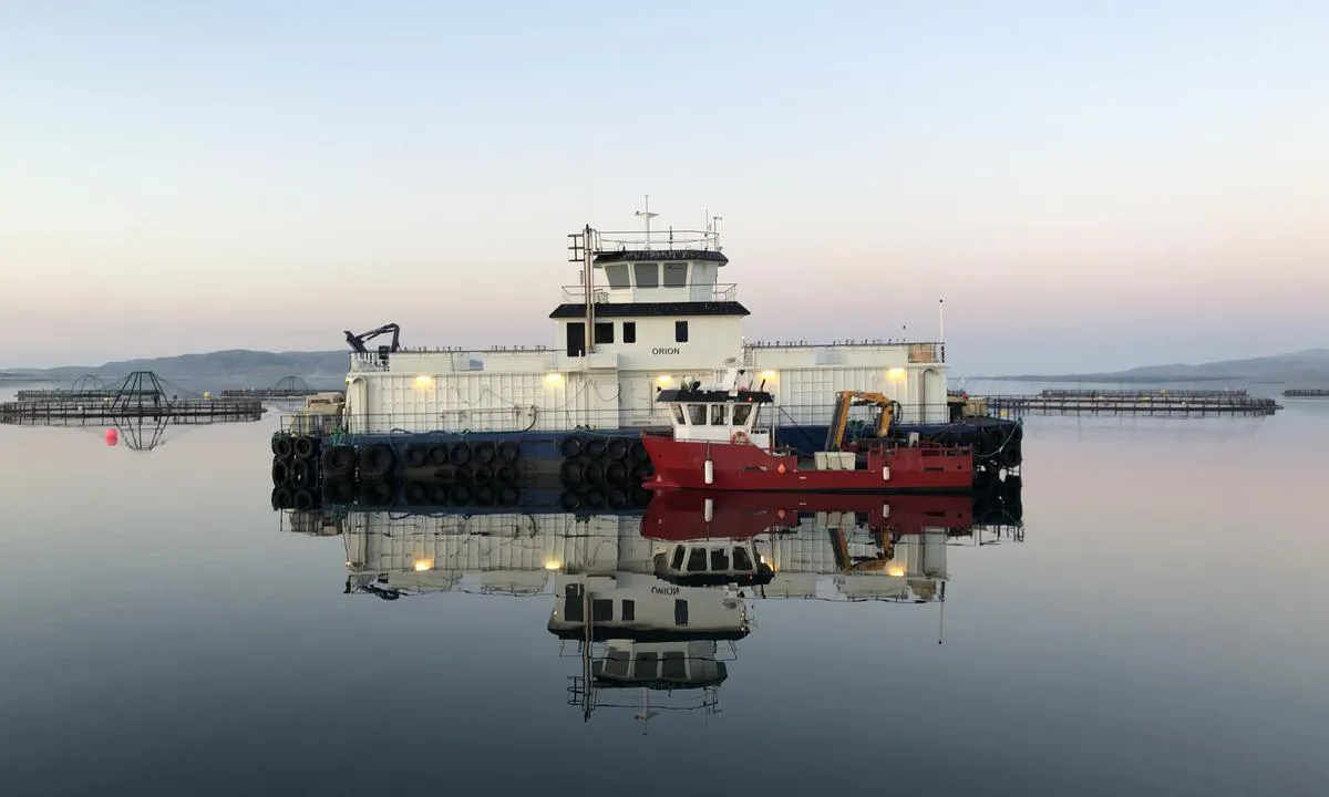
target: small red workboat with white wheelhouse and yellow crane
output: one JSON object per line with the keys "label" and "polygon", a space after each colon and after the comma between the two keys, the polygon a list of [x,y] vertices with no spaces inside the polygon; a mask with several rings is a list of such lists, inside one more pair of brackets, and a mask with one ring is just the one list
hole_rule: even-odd
{"label": "small red workboat with white wheelhouse and yellow crane", "polygon": [[[672,430],[642,433],[655,466],[655,477],[643,485],[651,490],[962,493],[973,485],[969,446],[937,445],[914,434],[892,438],[897,404],[881,393],[837,393],[824,450],[812,454],[780,448],[773,429],[762,426],[762,409],[775,402],[764,391],[691,383],[661,391],[655,400],[668,406]],[[876,408],[876,432],[847,442],[853,406]]]}

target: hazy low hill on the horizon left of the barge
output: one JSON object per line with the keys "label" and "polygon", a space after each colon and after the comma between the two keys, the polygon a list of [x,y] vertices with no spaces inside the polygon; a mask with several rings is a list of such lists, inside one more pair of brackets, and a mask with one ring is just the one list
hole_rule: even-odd
{"label": "hazy low hill on the horizon left of the barge", "polygon": [[60,368],[16,368],[0,371],[0,381],[72,383],[92,375],[106,381],[133,371],[152,371],[158,377],[195,391],[229,388],[268,388],[287,376],[298,376],[312,388],[342,388],[350,367],[350,351],[335,352],[255,352],[229,349],[174,357],[117,360],[101,365]]}

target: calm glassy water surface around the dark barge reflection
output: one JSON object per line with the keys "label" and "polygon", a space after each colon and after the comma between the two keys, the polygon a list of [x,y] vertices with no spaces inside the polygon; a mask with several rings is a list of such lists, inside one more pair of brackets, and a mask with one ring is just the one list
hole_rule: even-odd
{"label": "calm glassy water surface around the dark barge reflection", "polygon": [[[635,688],[601,691],[583,720],[577,643],[549,631],[567,576],[544,569],[560,563],[537,534],[521,549],[510,531],[534,521],[509,515],[492,545],[493,526],[447,521],[472,523],[449,527],[466,555],[525,550],[498,573],[477,558],[455,588],[412,566],[412,546],[443,550],[425,539],[444,521],[380,513],[302,534],[268,505],[275,422],[171,429],[148,453],[100,430],[0,426],[0,792],[1329,784],[1329,402],[1267,420],[1031,420],[1022,539],[950,538],[924,566],[945,576],[944,603],[851,602],[831,575],[821,599],[748,590],[750,634],[718,643],[719,688],[651,692],[647,721]],[[663,550],[635,519],[562,519],[581,541],[557,558],[613,558],[615,537]],[[348,561],[371,554],[432,591],[347,594]],[[859,578],[898,598],[882,576]]]}

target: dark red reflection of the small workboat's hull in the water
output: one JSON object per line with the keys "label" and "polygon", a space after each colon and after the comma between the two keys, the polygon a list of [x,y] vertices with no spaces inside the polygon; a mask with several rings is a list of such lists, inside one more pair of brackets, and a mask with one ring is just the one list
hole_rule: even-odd
{"label": "dark red reflection of the small workboat's hull in the water", "polygon": [[968,529],[974,522],[969,495],[663,490],[646,507],[642,535],[747,539],[797,526],[799,517],[811,513],[852,513],[868,527],[890,527],[898,537],[925,527]]}

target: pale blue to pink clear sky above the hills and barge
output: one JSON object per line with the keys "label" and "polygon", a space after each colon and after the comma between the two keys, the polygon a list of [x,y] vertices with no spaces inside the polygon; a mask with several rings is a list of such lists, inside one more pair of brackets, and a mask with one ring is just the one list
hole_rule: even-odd
{"label": "pale blue to pink clear sky above the hills and barge", "polygon": [[1329,345],[1329,4],[0,4],[0,367],[557,344],[723,215],[751,339],[952,373]]}

